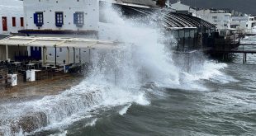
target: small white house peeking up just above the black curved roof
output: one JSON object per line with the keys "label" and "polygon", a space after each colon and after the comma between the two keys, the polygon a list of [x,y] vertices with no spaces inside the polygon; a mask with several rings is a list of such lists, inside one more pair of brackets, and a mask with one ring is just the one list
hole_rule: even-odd
{"label": "small white house peeking up just above the black curved roof", "polygon": [[176,12],[189,13],[192,16],[197,16],[197,10],[190,6],[183,4],[183,2],[181,2],[181,0],[178,0],[176,3],[171,4],[171,8],[176,10]]}

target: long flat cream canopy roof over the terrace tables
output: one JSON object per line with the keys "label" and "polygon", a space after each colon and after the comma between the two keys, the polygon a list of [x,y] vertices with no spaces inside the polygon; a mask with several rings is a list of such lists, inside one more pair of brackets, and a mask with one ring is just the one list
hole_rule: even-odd
{"label": "long flat cream canopy roof over the terrace tables", "polygon": [[0,40],[0,45],[12,46],[36,46],[36,47],[58,47],[79,49],[112,49],[117,44],[114,41],[93,40],[83,38],[59,38],[59,37],[26,37],[12,36]]}

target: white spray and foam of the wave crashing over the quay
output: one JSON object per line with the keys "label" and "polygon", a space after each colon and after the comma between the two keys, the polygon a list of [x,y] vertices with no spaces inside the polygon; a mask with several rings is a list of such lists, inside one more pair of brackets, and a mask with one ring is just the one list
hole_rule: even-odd
{"label": "white spray and foam of the wave crashing over the quay", "polygon": [[187,89],[197,85],[198,89],[195,81],[216,73],[222,75],[219,69],[226,67],[206,63],[206,71],[203,67],[194,73],[183,72],[173,63],[169,49],[161,44],[165,37],[161,30],[124,19],[110,5],[104,12],[111,24],[101,24],[100,38],[118,40],[119,47],[92,50],[90,73],[76,87],[40,100],[0,105],[0,135],[34,134],[49,129],[66,134],[64,129],[78,120],[93,118],[85,125],[96,124],[100,110],[123,106],[118,113],[125,115],[132,104],[148,106],[150,99],[143,86],[149,82]]}

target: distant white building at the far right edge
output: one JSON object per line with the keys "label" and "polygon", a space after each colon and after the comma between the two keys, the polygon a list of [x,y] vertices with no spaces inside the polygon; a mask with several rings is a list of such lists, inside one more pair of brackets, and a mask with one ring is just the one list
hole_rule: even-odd
{"label": "distant white building at the far right edge", "polygon": [[252,33],[256,27],[256,16],[232,16],[231,28]]}

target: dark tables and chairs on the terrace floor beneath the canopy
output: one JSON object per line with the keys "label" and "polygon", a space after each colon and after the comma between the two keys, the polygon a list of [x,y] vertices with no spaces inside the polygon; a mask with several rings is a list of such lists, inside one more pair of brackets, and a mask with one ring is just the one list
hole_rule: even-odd
{"label": "dark tables and chairs on the terrace floor beneath the canopy", "polygon": [[[23,82],[36,82],[50,79],[64,73],[77,73],[82,69],[80,63],[69,64],[42,64],[40,61],[0,61],[0,89],[2,87],[12,87],[12,77],[17,75],[17,84]],[[15,85],[16,86],[16,85]]]}

